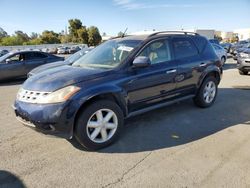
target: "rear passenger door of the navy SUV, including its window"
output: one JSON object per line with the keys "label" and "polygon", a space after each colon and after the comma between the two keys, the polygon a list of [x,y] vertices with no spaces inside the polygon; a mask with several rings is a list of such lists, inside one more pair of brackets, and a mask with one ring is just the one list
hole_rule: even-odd
{"label": "rear passenger door of the navy SUV, including its window", "polygon": [[178,64],[176,76],[178,95],[194,94],[207,63],[203,61],[199,49],[189,37],[174,37],[173,49]]}

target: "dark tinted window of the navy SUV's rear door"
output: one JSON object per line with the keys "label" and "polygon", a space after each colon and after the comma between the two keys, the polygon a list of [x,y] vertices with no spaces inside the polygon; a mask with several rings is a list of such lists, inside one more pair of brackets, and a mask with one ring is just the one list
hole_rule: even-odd
{"label": "dark tinted window of the navy SUV's rear door", "polygon": [[198,54],[196,46],[188,38],[173,39],[173,46],[176,59],[191,57]]}

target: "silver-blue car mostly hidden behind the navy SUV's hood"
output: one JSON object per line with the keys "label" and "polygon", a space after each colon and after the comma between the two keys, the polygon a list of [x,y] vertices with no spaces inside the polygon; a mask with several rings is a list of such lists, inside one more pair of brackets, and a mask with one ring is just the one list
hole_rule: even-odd
{"label": "silver-blue car mostly hidden behind the navy SUV's hood", "polygon": [[38,74],[40,72],[55,68],[55,67],[60,67],[60,66],[64,66],[64,65],[72,65],[76,60],[80,59],[82,56],[84,56],[85,54],[87,54],[91,49],[83,49],[80,50],[76,53],[74,53],[73,55],[69,56],[67,59],[65,59],[65,61],[59,61],[59,62],[55,62],[55,63],[49,63],[49,64],[45,64],[45,65],[41,65],[35,69],[33,69],[32,71],[30,71],[28,73],[28,77],[34,76],[35,74]]}

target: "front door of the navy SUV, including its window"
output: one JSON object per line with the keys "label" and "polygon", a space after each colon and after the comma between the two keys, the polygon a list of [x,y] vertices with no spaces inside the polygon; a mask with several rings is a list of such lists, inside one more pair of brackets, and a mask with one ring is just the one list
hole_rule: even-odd
{"label": "front door of the navy SUV, including its window", "polygon": [[138,56],[149,57],[151,66],[130,72],[127,88],[130,112],[173,97],[176,88],[177,65],[172,58],[170,40],[153,41]]}

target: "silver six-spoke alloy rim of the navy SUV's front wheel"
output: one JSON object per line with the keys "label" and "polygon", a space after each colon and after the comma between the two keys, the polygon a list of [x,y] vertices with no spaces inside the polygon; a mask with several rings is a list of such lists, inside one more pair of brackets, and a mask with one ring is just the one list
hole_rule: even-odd
{"label": "silver six-spoke alloy rim of the navy SUV's front wheel", "polygon": [[100,109],[92,114],[87,123],[87,135],[95,143],[110,140],[118,127],[118,118],[110,109]]}

